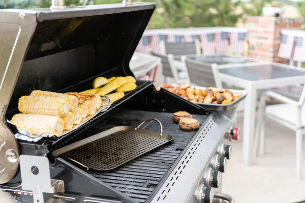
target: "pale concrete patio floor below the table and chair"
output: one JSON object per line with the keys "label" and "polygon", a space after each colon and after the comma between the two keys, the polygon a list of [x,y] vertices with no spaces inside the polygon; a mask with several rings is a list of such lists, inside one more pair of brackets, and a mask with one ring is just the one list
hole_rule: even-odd
{"label": "pale concrete patio floor below the table and chair", "polygon": [[[237,126],[242,132],[242,116]],[[266,152],[246,166],[242,163],[242,141],[231,141],[232,158],[223,174],[222,191],[236,203],[292,203],[305,200],[305,150],[303,179],[295,174],[295,132],[272,120],[266,121]],[[304,201],[305,202],[305,201]]]}

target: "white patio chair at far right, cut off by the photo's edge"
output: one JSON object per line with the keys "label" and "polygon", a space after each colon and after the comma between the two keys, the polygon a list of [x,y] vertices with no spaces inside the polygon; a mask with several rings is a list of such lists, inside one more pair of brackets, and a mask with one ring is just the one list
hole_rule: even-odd
{"label": "white patio chair at far right, cut off by the photo's edge", "polygon": [[[265,105],[266,95],[282,101],[284,104],[279,105]],[[261,95],[258,124],[256,128],[256,136],[254,143],[255,155],[264,154],[265,151],[265,117],[272,119],[292,130],[294,130],[296,136],[296,175],[299,179],[302,178],[302,134],[305,127],[305,110],[303,104],[305,100],[305,88],[303,88],[300,98],[295,101],[291,98],[285,97],[273,91],[263,92]],[[259,145],[259,149],[258,149]]]}

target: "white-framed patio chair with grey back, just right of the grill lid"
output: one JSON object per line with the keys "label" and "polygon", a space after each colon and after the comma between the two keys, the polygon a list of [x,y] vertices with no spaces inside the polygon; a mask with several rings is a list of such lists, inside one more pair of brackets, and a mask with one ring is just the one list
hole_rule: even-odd
{"label": "white-framed patio chair with grey back, just right of the grill lid", "polygon": [[184,72],[178,72],[176,67],[174,66],[174,56],[172,54],[168,55],[163,55],[163,54],[158,54],[156,52],[151,52],[151,55],[157,56],[161,58],[161,63],[162,63],[162,74],[164,75],[164,80],[165,82],[167,81],[167,78],[173,78],[174,83],[176,84],[182,84],[182,83],[188,83],[189,78],[188,75],[185,74]]}

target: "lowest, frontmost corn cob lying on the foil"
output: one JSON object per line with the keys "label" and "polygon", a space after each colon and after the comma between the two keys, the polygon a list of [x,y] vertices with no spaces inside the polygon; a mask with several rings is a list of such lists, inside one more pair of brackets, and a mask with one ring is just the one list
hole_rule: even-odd
{"label": "lowest, frontmost corn cob lying on the foil", "polygon": [[15,114],[11,122],[18,130],[27,130],[32,134],[51,133],[60,136],[64,130],[64,121],[58,116]]}

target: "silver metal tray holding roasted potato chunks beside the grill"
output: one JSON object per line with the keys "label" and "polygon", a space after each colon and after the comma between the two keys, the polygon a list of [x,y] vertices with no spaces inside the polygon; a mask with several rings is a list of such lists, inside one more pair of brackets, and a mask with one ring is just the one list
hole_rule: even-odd
{"label": "silver metal tray holding roasted potato chunks beside the grill", "polygon": [[[175,86],[175,85],[173,85]],[[195,89],[205,89],[206,87],[199,87],[199,86],[192,86],[193,88]],[[164,88],[162,88],[164,89]],[[210,112],[213,112],[213,111],[227,111],[233,107],[236,107],[238,105],[238,103],[240,101],[242,101],[243,99],[246,98],[248,92],[246,90],[235,90],[235,89],[229,89],[230,91],[232,91],[233,93],[237,93],[237,94],[241,94],[241,96],[239,98],[237,98],[236,100],[232,101],[230,104],[227,104],[227,105],[215,105],[215,104],[203,104],[203,103],[195,103],[195,102],[192,102],[188,99],[185,99],[183,97],[181,97],[180,95],[178,94],[175,94],[173,92],[170,92],[168,91],[167,89],[164,89],[165,91],[171,93],[172,95],[175,95],[176,97],[178,98],[181,98],[181,99],[184,99],[192,104],[195,104],[197,106],[199,106],[200,108],[204,109],[204,110],[207,110],[207,111],[210,111]]]}

